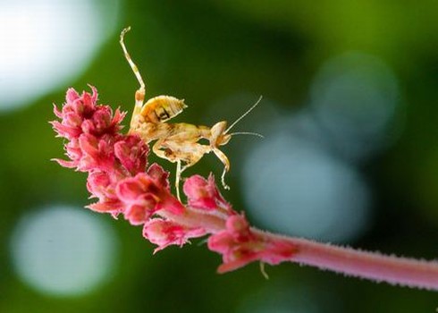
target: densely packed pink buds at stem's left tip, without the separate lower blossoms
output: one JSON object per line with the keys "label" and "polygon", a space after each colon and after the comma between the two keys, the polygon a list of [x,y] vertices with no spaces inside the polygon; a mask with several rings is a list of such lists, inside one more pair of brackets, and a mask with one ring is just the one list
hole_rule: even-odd
{"label": "densely packed pink buds at stem's left tip, without the separate lower blossoms", "polygon": [[122,114],[97,105],[97,90],[81,95],[69,89],[61,110],[61,121],[52,125],[59,137],[69,140],[66,156],[56,161],[88,173],[87,188],[97,203],[97,212],[122,214],[131,224],[144,224],[160,209],[181,214],[184,207],[170,193],[168,173],[159,165],[147,168],[148,147],[136,135],[124,135]]}

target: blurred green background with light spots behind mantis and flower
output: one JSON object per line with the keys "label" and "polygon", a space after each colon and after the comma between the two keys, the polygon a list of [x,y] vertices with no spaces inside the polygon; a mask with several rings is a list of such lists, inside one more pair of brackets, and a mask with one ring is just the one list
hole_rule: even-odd
{"label": "blurred green background with light spots behind mantis and flower", "polygon": [[432,0],[0,1],[0,312],[433,312],[436,292],[293,264],[217,275],[203,241],[152,256],[140,227],[82,208],[47,122],[88,83],[131,110],[131,25],[147,95],[189,105],[175,121],[232,122],[264,96],[236,130],[265,139],[223,148],[223,193],[253,224],[436,258],[437,18]]}

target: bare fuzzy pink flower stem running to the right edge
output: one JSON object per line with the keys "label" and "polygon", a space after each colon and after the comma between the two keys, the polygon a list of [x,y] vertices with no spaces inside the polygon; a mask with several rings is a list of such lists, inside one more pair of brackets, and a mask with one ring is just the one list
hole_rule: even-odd
{"label": "bare fuzzy pink flower stem running to the right edge", "polygon": [[263,233],[270,240],[281,239],[296,245],[298,252],[290,261],[316,266],[344,275],[376,282],[438,290],[438,262],[385,256],[299,238]]}

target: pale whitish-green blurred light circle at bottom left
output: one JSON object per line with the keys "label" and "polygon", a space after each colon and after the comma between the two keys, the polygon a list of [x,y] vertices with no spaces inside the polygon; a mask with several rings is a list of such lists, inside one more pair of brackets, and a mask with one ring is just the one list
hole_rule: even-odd
{"label": "pale whitish-green blurred light circle at bottom left", "polygon": [[11,250],[23,283],[49,295],[78,296],[112,276],[117,238],[111,227],[83,210],[47,207],[21,218]]}

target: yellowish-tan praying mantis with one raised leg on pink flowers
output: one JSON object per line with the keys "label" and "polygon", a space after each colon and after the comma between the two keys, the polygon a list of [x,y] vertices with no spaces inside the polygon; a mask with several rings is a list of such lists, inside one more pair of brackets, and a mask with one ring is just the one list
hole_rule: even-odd
{"label": "yellowish-tan praying mantis with one raised leg on pink flowers", "polygon": [[[223,188],[229,190],[230,187],[225,183],[225,173],[230,171],[230,161],[219,147],[226,145],[236,134],[256,135],[263,138],[255,132],[229,132],[259,104],[262,97],[230,127],[227,127],[226,121],[215,123],[212,127],[190,123],[166,123],[187,106],[183,99],[171,96],[152,97],[145,103],[146,84],[124,44],[124,36],[130,30],[131,27],[125,28],[120,34],[123,54],[139,81],[139,89],[135,92],[135,105],[129,133],[139,135],[147,144],[156,141],[152,146],[152,151],[156,156],[176,163],[175,188],[178,199],[180,199],[181,173],[197,164],[204,155],[210,152],[213,152],[222,162],[221,182]],[[209,144],[202,144],[199,140],[207,140]]]}

